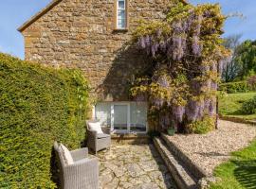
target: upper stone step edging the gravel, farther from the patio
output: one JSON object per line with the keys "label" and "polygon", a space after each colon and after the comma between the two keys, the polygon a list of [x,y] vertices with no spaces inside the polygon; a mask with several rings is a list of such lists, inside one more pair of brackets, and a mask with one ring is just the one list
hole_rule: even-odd
{"label": "upper stone step edging the gravel, farther from the patio", "polygon": [[172,152],[172,154],[174,154],[174,157],[176,157],[178,161],[182,162],[186,166],[190,173],[192,173],[193,177],[196,180],[201,180],[202,178],[208,177],[204,170],[193,163],[192,160],[182,150],[180,150],[180,148],[175,146],[175,144],[169,140],[169,137],[170,136],[167,134],[161,133],[161,138],[164,140],[168,149]]}

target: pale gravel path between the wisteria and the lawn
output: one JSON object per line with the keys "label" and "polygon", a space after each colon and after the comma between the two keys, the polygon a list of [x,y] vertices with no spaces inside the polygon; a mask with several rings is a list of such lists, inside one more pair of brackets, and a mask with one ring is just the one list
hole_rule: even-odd
{"label": "pale gravel path between the wisteria and the lawn", "polygon": [[168,136],[191,160],[211,175],[214,167],[229,160],[229,153],[244,148],[256,136],[256,127],[219,121],[219,129],[205,135]]}

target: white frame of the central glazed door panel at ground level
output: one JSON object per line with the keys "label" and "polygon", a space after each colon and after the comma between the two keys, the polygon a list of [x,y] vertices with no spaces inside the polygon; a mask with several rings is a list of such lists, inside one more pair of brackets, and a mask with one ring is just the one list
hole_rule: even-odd
{"label": "white frame of the central glazed door panel at ground level", "polygon": [[[127,106],[127,129],[114,129],[114,113],[115,105]],[[111,131],[114,133],[130,133],[131,120],[130,120],[130,103],[129,102],[113,102],[111,103]]]}

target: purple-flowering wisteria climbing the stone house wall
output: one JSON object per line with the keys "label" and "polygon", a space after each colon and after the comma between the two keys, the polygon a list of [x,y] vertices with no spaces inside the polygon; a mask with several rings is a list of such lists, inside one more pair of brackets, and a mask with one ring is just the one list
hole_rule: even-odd
{"label": "purple-flowering wisteria climbing the stone house wall", "polygon": [[137,48],[152,58],[131,94],[150,103],[158,129],[207,132],[214,128],[218,66],[229,55],[221,34],[226,16],[219,5],[174,2],[161,22],[141,22]]}

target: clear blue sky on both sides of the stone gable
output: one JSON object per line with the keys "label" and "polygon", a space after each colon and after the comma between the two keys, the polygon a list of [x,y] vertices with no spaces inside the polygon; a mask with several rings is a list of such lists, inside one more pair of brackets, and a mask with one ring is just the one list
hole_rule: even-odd
{"label": "clear blue sky on both sides of the stone gable", "polygon": [[[1,0],[0,2],[0,51],[24,59],[24,40],[17,28],[51,0]],[[255,0],[189,0],[192,4],[220,3],[225,14],[243,13],[245,19],[229,18],[225,36],[243,34],[242,40],[256,39]]]}

